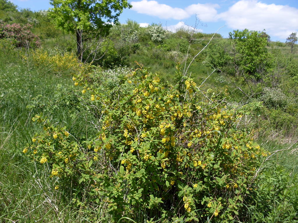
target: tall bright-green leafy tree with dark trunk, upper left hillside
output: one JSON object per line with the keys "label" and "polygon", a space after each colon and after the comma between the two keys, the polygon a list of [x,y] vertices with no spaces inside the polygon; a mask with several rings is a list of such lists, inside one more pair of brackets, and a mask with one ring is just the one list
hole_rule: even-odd
{"label": "tall bright-green leafy tree with dark trunk, upper left hillside", "polygon": [[[83,34],[108,34],[124,8],[131,8],[127,0],[50,0],[54,8],[50,16],[57,28],[76,34],[77,55],[83,59]],[[90,36],[88,38],[91,38]]]}

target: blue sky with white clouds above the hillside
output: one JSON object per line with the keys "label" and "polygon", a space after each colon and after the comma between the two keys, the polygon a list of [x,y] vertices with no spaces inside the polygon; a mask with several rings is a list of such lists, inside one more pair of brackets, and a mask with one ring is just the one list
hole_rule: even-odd
{"label": "blue sky with white clouds above the hillside", "polygon": [[[47,10],[48,0],[11,0],[20,8],[33,11]],[[125,9],[119,21],[137,21],[142,26],[151,23],[162,25],[174,31],[181,26],[194,26],[195,16],[200,19],[198,31],[213,33],[221,26],[219,33],[228,37],[234,29],[263,29],[271,40],[285,39],[298,31],[298,0],[134,0],[131,9]]]}

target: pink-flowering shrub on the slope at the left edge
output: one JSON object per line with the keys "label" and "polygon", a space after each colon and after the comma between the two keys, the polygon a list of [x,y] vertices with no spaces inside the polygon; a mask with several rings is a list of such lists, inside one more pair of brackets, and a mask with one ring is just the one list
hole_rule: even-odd
{"label": "pink-flowering shrub on the slope at the left edge", "polygon": [[10,38],[15,40],[17,47],[38,47],[40,40],[31,31],[31,25],[18,23],[4,24],[0,22],[0,39]]}

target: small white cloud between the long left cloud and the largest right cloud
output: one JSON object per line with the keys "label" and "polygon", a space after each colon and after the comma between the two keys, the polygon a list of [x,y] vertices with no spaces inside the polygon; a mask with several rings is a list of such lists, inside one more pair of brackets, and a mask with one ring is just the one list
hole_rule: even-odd
{"label": "small white cloud between the long left cloud and the largest right cloud", "polygon": [[216,21],[217,11],[215,8],[219,8],[218,4],[192,4],[185,8],[190,14],[198,15],[198,18],[204,22]]}

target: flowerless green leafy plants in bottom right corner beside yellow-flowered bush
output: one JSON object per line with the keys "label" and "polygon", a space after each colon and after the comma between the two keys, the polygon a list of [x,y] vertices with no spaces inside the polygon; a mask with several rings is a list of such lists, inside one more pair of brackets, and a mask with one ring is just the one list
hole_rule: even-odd
{"label": "flowerless green leafy plants in bottom right corner beside yellow-flowered bush", "polygon": [[248,205],[252,221],[298,222],[298,175],[279,165],[263,170],[257,177],[258,189]]}

